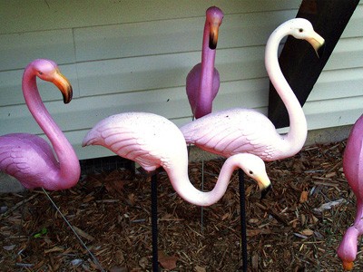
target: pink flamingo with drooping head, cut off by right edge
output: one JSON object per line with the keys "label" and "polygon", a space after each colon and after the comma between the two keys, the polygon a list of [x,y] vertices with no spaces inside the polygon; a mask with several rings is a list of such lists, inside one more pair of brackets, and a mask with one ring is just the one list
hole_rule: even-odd
{"label": "pink flamingo with drooping head, cut off by right edge", "polygon": [[357,198],[356,219],[338,247],[338,257],[341,258],[344,269],[350,271],[357,257],[358,237],[363,234],[363,115],[350,131],[343,156],[343,170]]}

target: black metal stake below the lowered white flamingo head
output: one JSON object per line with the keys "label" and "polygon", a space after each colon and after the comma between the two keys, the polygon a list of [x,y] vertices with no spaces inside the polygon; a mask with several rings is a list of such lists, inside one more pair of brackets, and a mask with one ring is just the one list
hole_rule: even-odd
{"label": "black metal stake below the lowered white flamingo head", "polygon": [[247,254],[247,230],[246,230],[246,199],[244,190],[244,172],[239,170],[240,182],[240,239],[242,243],[242,270],[247,272],[248,254]]}

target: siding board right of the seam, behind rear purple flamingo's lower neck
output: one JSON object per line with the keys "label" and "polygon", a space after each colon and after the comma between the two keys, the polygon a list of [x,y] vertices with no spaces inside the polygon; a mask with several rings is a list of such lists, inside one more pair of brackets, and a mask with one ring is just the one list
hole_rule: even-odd
{"label": "siding board right of the seam, behind rear purple flamingo's lower neck", "polygon": [[[263,46],[220,50],[216,67],[222,81],[266,76],[263,54]],[[78,63],[81,95],[185,86],[191,67],[200,61],[200,53],[179,53]]]}

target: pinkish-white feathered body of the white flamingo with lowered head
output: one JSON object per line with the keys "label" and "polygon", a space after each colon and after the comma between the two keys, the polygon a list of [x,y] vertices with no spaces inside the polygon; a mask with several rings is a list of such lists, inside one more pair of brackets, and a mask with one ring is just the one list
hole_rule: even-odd
{"label": "pinkish-white feathered body of the white flamingo with lowered head", "polygon": [[100,121],[84,137],[86,145],[102,145],[147,171],[188,164],[182,132],[172,121],[147,112],[125,112]]}

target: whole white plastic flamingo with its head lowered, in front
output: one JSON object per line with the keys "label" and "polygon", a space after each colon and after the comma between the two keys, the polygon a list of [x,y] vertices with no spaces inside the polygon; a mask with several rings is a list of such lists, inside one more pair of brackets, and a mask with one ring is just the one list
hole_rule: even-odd
{"label": "whole white plastic flamingo with its head lowered, in front", "polygon": [[238,167],[256,180],[261,189],[270,185],[263,161],[251,154],[239,154],[225,161],[214,189],[209,192],[195,189],[188,177],[188,152],[182,132],[172,121],[152,113],[110,116],[87,133],[82,145],[102,145],[138,162],[147,171],[162,167],[182,199],[199,206],[209,206],[221,199],[233,170]]}

